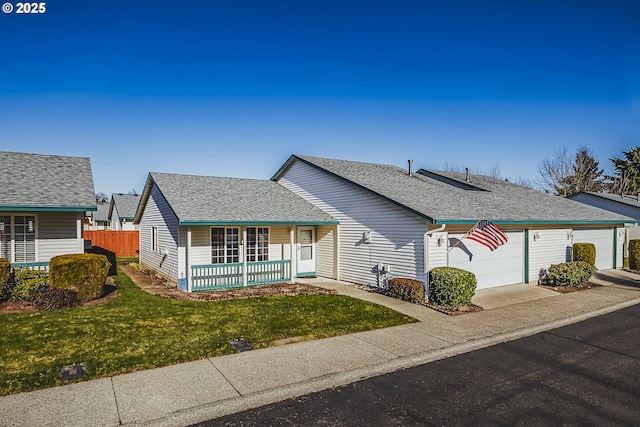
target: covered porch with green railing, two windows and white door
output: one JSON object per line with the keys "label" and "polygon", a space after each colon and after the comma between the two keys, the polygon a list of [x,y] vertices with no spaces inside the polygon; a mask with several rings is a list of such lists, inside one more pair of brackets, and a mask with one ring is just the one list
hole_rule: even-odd
{"label": "covered porch with green railing, two windows and white door", "polygon": [[[330,265],[337,227],[310,224],[206,225],[182,230],[178,288],[215,291],[313,277]],[[204,261],[204,262],[203,262]],[[209,262],[207,262],[209,261]]]}

